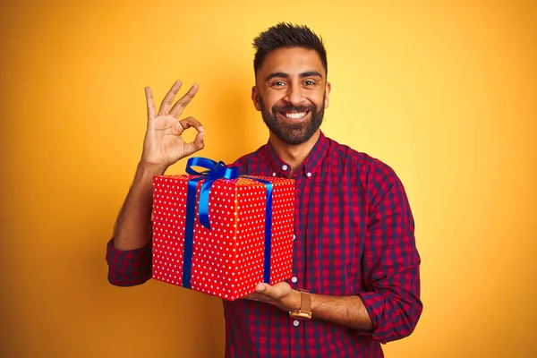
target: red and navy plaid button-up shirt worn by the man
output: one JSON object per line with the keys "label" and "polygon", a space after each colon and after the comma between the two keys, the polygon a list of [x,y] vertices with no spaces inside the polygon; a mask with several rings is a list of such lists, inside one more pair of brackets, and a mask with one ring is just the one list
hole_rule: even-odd
{"label": "red and navy plaid button-up shirt worn by the man", "polygon": [[[239,158],[242,175],[289,177],[290,166],[268,143]],[[327,321],[292,320],[288,312],[249,300],[224,302],[226,357],[382,357],[380,343],[413,332],[422,313],[420,256],[403,184],[387,165],[321,132],[295,170],[293,288],[313,294],[357,294],[370,314],[364,333]],[[109,281],[132,286],[151,276],[150,245],[107,246]]]}

